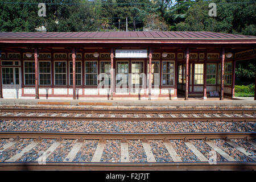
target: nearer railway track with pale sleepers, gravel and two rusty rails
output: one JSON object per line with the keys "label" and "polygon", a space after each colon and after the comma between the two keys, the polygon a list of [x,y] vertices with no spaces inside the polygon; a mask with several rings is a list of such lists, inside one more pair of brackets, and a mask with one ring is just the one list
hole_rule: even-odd
{"label": "nearer railway track with pale sleepers, gravel and two rusty rails", "polygon": [[1,132],[0,169],[255,170],[255,136]]}

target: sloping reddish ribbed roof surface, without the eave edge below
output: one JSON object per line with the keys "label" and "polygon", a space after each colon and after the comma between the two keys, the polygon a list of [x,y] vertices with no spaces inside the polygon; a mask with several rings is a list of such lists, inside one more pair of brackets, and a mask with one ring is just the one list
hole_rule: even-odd
{"label": "sloping reddish ribbed roof surface, without the eave edge below", "polygon": [[217,32],[0,32],[1,39],[256,39]]}

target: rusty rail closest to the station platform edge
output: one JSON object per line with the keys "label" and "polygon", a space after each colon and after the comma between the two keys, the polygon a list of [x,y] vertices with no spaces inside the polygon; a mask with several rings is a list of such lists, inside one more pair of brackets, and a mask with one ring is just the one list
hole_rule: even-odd
{"label": "rusty rail closest to the station platform edge", "polygon": [[122,110],[122,109],[115,109],[115,110],[104,110],[104,109],[46,109],[46,108],[0,108],[1,112],[40,112],[40,113],[101,113],[101,114],[118,114],[118,113],[125,113],[125,114],[221,114],[221,113],[226,113],[226,114],[243,114],[243,113],[256,113],[256,110],[220,110],[220,109],[203,109],[203,110],[196,110],[196,109],[189,109],[189,110]]}

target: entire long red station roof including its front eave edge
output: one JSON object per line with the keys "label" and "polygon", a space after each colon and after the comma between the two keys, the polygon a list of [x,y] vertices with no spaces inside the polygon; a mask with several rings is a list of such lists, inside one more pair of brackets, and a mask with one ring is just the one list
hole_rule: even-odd
{"label": "entire long red station roof including its front eave edge", "polygon": [[216,32],[0,32],[0,43],[256,44],[256,36]]}

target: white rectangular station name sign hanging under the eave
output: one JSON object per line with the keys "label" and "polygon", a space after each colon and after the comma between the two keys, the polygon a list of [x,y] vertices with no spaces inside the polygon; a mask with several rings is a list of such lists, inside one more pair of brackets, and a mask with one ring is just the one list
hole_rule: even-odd
{"label": "white rectangular station name sign hanging under the eave", "polygon": [[147,58],[147,49],[117,49],[117,58]]}

